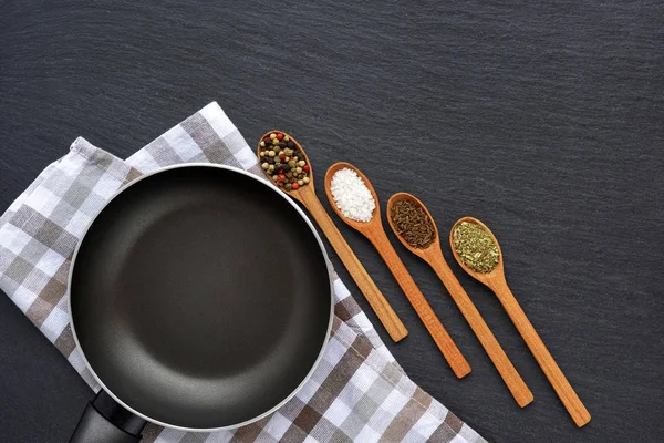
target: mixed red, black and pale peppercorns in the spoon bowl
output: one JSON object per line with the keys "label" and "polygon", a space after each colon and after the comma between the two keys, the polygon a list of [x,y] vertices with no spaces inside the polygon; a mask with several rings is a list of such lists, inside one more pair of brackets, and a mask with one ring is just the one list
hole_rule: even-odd
{"label": "mixed red, black and pale peppercorns in the spoon bowl", "polygon": [[266,174],[286,190],[309,183],[310,166],[299,146],[280,132],[271,132],[260,141],[259,161]]}

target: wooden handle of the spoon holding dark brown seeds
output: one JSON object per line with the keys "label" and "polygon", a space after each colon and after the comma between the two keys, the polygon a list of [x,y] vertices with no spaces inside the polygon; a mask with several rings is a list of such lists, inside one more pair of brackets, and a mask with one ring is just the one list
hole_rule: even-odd
{"label": "wooden handle of the spoon holding dark brown seeds", "polygon": [[473,300],[470,300],[470,297],[468,297],[468,293],[464,290],[461,284],[459,284],[459,280],[457,280],[452,269],[449,269],[443,254],[439,254],[439,257],[430,260],[429,264],[440,278],[440,281],[443,281],[443,285],[445,285],[445,288],[466,318],[466,321],[468,321],[468,324],[470,324],[473,332],[477,336],[477,339],[494,362],[494,365],[519,406],[523,408],[532,402],[532,392],[530,392],[528,385],[526,385],[523,379],[521,379],[521,375],[519,375],[519,372],[517,372],[512,362],[502,350],[502,347],[496,340],[496,337],[473,303]]}

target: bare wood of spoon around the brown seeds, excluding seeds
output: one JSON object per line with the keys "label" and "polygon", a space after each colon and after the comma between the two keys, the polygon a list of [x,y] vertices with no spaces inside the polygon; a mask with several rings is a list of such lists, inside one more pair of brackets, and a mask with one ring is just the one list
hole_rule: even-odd
{"label": "bare wood of spoon around the brown seeds, excluding seeds", "polygon": [[[394,204],[402,200],[409,200],[418,205],[426,213],[429,220],[432,222],[432,226],[434,228],[434,241],[428,247],[423,249],[415,248],[408,245],[408,243],[398,234],[398,229],[392,222],[391,214]],[[406,247],[406,249],[408,249],[411,253],[415,254],[417,257],[426,261],[438,275],[438,277],[443,281],[443,285],[445,285],[445,288],[447,288],[447,291],[449,292],[456,305],[459,307],[459,310],[466,318],[466,321],[468,321],[468,324],[470,324],[473,332],[475,332],[485,351],[487,351],[487,354],[494,362],[494,365],[500,373],[500,377],[502,377],[505,384],[507,384],[507,388],[513,395],[519,406],[523,408],[527,404],[530,404],[530,402],[532,402],[532,392],[530,392],[530,390],[523,382],[523,379],[521,379],[521,375],[519,375],[519,373],[515,369],[513,364],[500,347],[500,343],[498,343],[498,340],[496,340],[496,337],[494,337],[494,333],[485,322],[484,318],[481,317],[481,315],[479,313],[479,311],[477,310],[477,308],[475,307],[475,305],[459,284],[459,280],[457,280],[455,275],[452,272],[452,269],[449,269],[445,257],[443,257],[443,251],[440,250],[440,237],[438,236],[438,228],[436,227],[434,217],[432,217],[426,206],[424,206],[422,202],[419,202],[411,194],[394,194],[387,202],[387,220],[390,222],[392,230],[400,239],[400,241]]]}

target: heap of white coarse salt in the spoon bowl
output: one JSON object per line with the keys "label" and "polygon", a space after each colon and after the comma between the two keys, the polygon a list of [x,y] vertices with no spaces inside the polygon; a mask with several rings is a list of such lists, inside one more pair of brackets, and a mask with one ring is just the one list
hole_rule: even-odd
{"label": "heap of white coarse salt in the spoon bowl", "polygon": [[376,202],[364,181],[353,169],[344,167],[332,176],[330,182],[332,198],[341,213],[356,222],[369,222],[376,208]]}

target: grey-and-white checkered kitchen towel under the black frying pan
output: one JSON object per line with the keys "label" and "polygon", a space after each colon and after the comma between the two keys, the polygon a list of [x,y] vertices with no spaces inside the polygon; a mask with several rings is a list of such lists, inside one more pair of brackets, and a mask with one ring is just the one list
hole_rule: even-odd
{"label": "grey-and-white checkered kitchen towel under the black frying pan", "polygon": [[[122,161],[76,140],[0,217],[0,288],[98,390],[76,349],[66,308],[71,256],[87,223],[124,184],[177,163],[211,162],[261,175],[253,151],[211,103]],[[236,431],[185,433],[148,425],[147,442],[484,442],[418,388],[335,278],[325,356],[286,405]]]}

